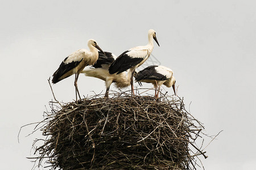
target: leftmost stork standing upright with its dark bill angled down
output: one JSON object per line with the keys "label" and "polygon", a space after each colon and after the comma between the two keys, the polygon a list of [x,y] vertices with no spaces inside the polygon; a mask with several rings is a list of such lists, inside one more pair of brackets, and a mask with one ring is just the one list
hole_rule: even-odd
{"label": "leftmost stork standing upright with its dark bill angled down", "polygon": [[[73,52],[71,55],[66,57],[63,62],[61,62],[59,69],[53,73],[52,83],[55,84],[60,80],[63,80],[73,74],[75,74],[75,89],[76,89],[76,102],[77,94],[80,97],[79,90],[77,88],[77,79],[79,74],[84,69],[85,66],[94,65],[98,59],[98,50],[101,52],[102,49],[97,45],[97,42],[93,39],[88,40],[88,47],[90,50],[79,49],[76,52]],[[98,50],[97,50],[98,49]],[[104,52],[103,52],[104,53]]]}

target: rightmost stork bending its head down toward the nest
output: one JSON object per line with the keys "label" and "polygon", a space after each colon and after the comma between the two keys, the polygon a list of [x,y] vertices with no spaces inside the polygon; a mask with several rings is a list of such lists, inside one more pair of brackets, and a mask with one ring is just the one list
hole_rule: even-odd
{"label": "rightmost stork bending its head down toward the nest", "polygon": [[[138,82],[152,83],[155,87],[155,97],[158,99],[160,86],[164,84],[167,87],[171,87],[175,92],[175,77],[172,76],[174,73],[171,69],[165,66],[148,66],[145,69],[139,71],[135,76],[135,80]],[[158,87],[158,92],[156,94],[156,88]]]}

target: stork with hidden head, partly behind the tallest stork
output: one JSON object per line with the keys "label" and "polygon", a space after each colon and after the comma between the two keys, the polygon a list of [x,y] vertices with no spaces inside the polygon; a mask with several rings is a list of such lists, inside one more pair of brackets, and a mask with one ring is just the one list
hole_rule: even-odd
{"label": "stork with hidden head, partly behind the tallest stork", "polygon": [[[104,54],[105,53],[105,54]],[[115,83],[117,88],[125,88],[130,86],[131,71],[123,71],[120,74],[109,74],[109,66],[117,58],[110,52],[98,52],[98,60],[93,66],[85,67],[81,73],[85,76],[92,76],[105,81],[106,93],[105,98],[109,97],[109,89],[112,83]]]}

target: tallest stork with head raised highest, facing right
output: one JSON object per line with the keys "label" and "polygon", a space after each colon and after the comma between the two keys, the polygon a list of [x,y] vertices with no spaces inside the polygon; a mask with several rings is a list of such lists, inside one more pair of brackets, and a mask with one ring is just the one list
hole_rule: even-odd
{"label": "tallest stork with head raised highest, facing right", "polygon": [[120,74],[123,71],[130,70],[130,84],[131,84],[131,94],[134,95],[133,88],[133,76],[135,69],[141,66],[147,58],[150,56],[154,44],[153,39],[159,45],[158,40],[156,39],[156,33],[153,29],[148,30],[148,43],[145,46],[136,46],[129,50],[123,52],[120,56],[115,59],[115,61],[109,67],[110,74]]}

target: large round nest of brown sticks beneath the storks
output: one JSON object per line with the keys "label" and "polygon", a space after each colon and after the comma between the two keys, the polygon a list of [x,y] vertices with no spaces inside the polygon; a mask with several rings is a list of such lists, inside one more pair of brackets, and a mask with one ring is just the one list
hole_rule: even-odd
{"label": "large round nest of brown sticks beneath the storks", "polygon": [[46,139],[35,149],[39,165],[47,159],[52,169],[196,168],[195,157],[204,155],[195,145],[203,126],[182,99],[115,95],[59,108],[51,103],[40,128]]}

